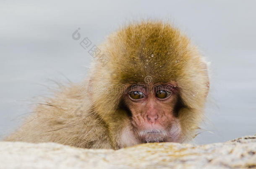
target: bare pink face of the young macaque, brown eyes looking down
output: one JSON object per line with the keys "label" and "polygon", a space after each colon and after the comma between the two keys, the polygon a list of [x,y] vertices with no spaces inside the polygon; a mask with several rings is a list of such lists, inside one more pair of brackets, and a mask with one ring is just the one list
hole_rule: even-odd
{"label": "bare pink face of the young macaque, brown eyes looking down", "polygon": [[134,134],[141,143],[177,141],[178,88],[173,83],[133,85],[128,89],[125,103],[131,112]]}

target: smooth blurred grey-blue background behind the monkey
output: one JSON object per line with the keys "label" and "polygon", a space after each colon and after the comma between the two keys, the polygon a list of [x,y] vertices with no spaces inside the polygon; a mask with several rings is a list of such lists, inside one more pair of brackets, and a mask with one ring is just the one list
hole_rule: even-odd
{"label": "smooth blurred grey-blue background behind the monkey", "polygon": [[56,83],[79,82],[91,56],[73,40],[100,44],[131,20],[170,20],[211,62],[206,119],[195,141],[256,134],[255,0],[0,1],[0,138]]}

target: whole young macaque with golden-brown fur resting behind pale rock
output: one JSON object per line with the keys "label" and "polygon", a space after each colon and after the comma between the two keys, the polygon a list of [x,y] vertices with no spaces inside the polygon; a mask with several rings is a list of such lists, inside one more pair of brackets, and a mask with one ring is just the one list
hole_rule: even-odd
{"label": "whole young macaque with golden-brown fur resting behind pale rock", "polygon": [[8,141],[120,149],[189,141],[209,90],[206,62],[177,28],[131,23],[98,46],[89,75],[35,108]]}

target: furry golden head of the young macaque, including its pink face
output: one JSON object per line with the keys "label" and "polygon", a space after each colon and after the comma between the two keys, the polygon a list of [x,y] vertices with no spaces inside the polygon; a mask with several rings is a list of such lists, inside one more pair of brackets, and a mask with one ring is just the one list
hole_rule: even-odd
{"label": "furry golden head of the young macaque, including its pink face", "polygon": [[209,78],[185,35],[168,23],[141,21],[112,33],[99,48],[107,63],[94,58],[89,99],[114,149],[193,138]]}

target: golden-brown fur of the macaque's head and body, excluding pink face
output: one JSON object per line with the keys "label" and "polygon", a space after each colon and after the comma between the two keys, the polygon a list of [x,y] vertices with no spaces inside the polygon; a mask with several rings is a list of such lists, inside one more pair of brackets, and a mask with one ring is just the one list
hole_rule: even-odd
{"label": "golden-brown fur of the macaque's head and body, excluding pink face", "polygon": [[152,83],[177,83],[182,101],[179,142],[193,138],[202,120],[209,79],[206,63],[185,35],[168,23],[142,21],[120,28],[99,47],[109,61],[102,66],[96,57],[88,79],[81,83],[98,85],[97,90],[81,92],[81,84],[63,88],[37,106],[7,140],[84,148],[128,146],[120,141],[121,132],[131,124],[128,112],[120,107],[120,85],[144,83],[146,76]]}

